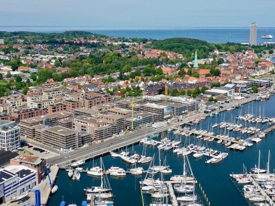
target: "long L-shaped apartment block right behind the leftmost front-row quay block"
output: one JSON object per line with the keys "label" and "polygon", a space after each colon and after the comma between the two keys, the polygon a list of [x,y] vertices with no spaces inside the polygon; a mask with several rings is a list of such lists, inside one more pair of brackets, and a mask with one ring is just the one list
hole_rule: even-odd
{"label": "long L-shaped apartment block right behind the leftmost front-row quay block", "polygon": [[45,114],[29,119],[23,119],[18,124],[20,126],[21,136],[25,138],[36,139],[36,129],[43,128],[45,126],[56,126],[59,119],[71,117],[72,113],[69,112],[55,112],[51,114]]}

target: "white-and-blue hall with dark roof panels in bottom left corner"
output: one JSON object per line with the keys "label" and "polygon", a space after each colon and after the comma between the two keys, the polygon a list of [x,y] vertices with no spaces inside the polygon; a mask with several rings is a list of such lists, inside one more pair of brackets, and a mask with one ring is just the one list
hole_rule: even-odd
{"label": "white-and-blue hall with dark roof panels in bottom left corner", "polygon": [[26,166],[8,166],[0,169],[0,204],[37,185],[37,172]]}

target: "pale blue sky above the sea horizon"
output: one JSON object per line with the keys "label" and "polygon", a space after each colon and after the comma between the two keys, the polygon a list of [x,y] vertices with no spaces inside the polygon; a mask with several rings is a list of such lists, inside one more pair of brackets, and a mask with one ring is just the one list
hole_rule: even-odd
{"label": "pale blue sky above the sea horizon", "polygon": [[275,27],[275,0],[2,0],[1,26]]}

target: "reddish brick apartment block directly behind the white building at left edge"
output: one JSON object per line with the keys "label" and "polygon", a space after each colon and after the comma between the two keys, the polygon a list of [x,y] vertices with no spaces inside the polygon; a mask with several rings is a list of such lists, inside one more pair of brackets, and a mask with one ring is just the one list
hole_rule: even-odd
{"label": "reddish brick apartment block directly behind the white building at left edge", "polygon": [[42,116],[43,110],[39,108],[30,108],[30,109],[16,109],[13,111],[12,116],[15,117],[16,121],[21,121],[23,119],[28,119],[36,116]]}

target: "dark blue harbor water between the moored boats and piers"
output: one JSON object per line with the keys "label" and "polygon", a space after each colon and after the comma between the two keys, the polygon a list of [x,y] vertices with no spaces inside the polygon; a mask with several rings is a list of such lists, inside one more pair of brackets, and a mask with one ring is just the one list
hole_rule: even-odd
{"label": "dark blue harbor water between the moored boats and piers", "polygon": [[[254,101],[248,104],[243,105],[242,108],[236,108],[230,111],[224,111],[219,115],[213,117],[207,117],[205,120],[201,121],[199,125],[195,126],[196,129],[212,129],[212,125],[216,122],[228,121],[237,123],[237,117],[240,113],[242,115],[246,113],[256,113],[257,115],[261,114],[262,116],[272,117],[275,116],[275,110],[273,105],[275,104],[275,97],[271,96],[269,100]],[[242,125],[245,126],[244,121],[240,121]],[[251,126],[255,126],[264,130],[267,126],[262,124],[251,124]],[[247,127],[250,127],[247,122]],[[220,134],[219,129],[215,129],[213,132]],[[174,138],[172,132],[169,134],[164,133],[163,135]],[[161,135],[160,135],[161,136]],[[240,133],[231,133],[230,136],[233,137],[241,137],[248,138],[248,135],[242,135]],[[201,184],[206,197],[208,198],[210,205],[214,206],[232,206],[232,205],[249,205],[246,199],[244,199],[241,192],[238,190],[239,187],[235,186],[232,180],[229,178],[229,174],[231,173],[243,173],[243,164],[245,164],[246,168],[249,170],[254,167],[255,164],[258,164],[258,153],[261,150],[261,168],[266,168],[267,164],[267,156],[268,150],[270,150],[270,172],[274,170],[274,157],[275,152],[273,150],[275,146],[275,133],[269,133],[265,138],[262,139],[259,143],[254,143],[253,146],[248,147],[244,151],[234,151],[225,148],[222,144],[217,144],[217,141],[213,141],[207,143],[206,141],[201,140],[202,144],[208,146],[213,149],[217,149],[220,151],[226,150],[228,152],[227,158],[220,161],[217,164],[206,164],[205,161],[208,157],[203,156],[200,159],[194,159],[192,155],[189,155],[189,161],[191,164],[192,172],[195,178],[198,181],[197,191],[200,196],[200,199],[203,201],[204,205],[206,205],[206,198],[203,197],[202,191],[199,189],[199,184]],[[161,137],[159,137],[160,139]],[[185,142],[194,142],[197,141],[195,137],[190,136],[187,141],[185,137],[182,137],[183,144]],[[130,154],[132,150],[142,153],[143,146],[142,145],[132,145],[128,146],[130,150]],[[147,155],[155,154],[155,162],[159,163],[159,154],[157,147],[146,147]],[[161,151],[161,159],[164,160],[166,156],[170,168],[173,170],[172,174],[164,175],[165,180],[169,180],[172,175],[180,175],[183,172],[183,157],[177,156],[173,153],[173,151]],[[111,166],[124,168],[126,171],[131,168],[128,164],[124,163],[120,158],[111,157],[111,155],[103,156],[103,162],[105,169],[107,170]],[[86,168],[91,168],[92,164],[97,163],[100,165],[99,158],[95,158],[94,161],[87,161],[85,166]],[[147,170],[149,163],[140,164],[145,170]],[[249,171],[248,171],[249,172]],[[110,177],[108,176],[110,186],[112,188],[112,193],[115,195],[114,197],[114,205],[149,205],[151,202],[150,197],[145,193],[141,193],[139,181],[144,179],[145,174],[140,176],[134,176],[131,174],[127,174],[124,177]],[[159,177],[159,176],[158,176]],[[84,188],[91,186],[100,186],[100,177],[92,177],[88,176],[86,173],[81,173],[80,181],[73,181],[68,178],[67,172],[60,170],[56,185],[58,185],[58,191],[53,194],[49,199],[49,205],[59,205],[62,201],[62,196],[64,201],[69,203],[76,203],[80,205],[83,200],[86,199]],[[177,195],[177,194],[176,194]]]}

